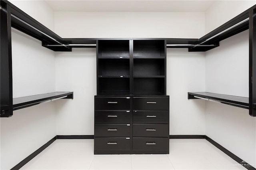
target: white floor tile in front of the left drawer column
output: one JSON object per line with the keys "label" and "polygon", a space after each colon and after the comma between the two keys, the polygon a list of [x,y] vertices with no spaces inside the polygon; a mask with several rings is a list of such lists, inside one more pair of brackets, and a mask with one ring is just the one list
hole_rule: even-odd
{"label": "white floor tile in front of the left drawer column", "polygon": [[94,155],[90,170],[131,170],[131,155]]}

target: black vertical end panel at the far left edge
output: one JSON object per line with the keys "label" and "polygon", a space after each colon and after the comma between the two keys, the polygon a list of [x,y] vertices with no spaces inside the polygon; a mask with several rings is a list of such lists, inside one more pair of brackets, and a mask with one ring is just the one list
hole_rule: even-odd
{"label": "black vertical end panel at the far left edge", "polygon": [[0,117],[12,116],[12,39],[10,6],[1,2],[0,10]]}

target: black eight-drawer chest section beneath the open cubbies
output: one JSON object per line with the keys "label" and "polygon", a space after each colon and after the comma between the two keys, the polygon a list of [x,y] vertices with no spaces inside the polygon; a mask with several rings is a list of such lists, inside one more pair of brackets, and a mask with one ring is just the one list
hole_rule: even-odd
{"label": "black eight-drawer chest section beneath the open cubbies", "polygon": [[95,96],[94,154],[168,154],[169,96]]}

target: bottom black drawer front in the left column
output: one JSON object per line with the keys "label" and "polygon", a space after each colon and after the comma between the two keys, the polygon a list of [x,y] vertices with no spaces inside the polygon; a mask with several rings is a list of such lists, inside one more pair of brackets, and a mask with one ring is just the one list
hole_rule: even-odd
{"label": "bottom black drawer front in the left column", "polygon": [[94,150],[130,150],[130,139],[94,138]]}

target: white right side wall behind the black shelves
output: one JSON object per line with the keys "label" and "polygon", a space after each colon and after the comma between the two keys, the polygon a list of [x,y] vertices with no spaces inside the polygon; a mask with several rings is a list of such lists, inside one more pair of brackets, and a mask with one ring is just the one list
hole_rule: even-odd
{"label": "white right side wall behind the black shelves", "polygon": [[[206,32],[247,10],[255,1],[216,2],[206,12]],[[228,10],[230,9],[230,10]],[[248,97],[248,31],[206,52],[206,91]],[[206,135],[256,167],[256,118],[247,109],[206,102]]]}

